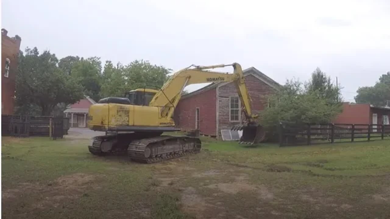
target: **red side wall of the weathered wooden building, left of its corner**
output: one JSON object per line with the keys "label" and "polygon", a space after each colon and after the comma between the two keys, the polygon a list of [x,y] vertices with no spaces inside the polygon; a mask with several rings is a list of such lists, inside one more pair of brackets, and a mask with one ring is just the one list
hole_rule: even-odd
{"label": "red side wall of the weathered wooden building, left of its corner", "polygon": [[199,108],[200,133],[215,136],[216,88],[181,99],[174,111],[176,126],[183,130],[195,129],[196,108]]}

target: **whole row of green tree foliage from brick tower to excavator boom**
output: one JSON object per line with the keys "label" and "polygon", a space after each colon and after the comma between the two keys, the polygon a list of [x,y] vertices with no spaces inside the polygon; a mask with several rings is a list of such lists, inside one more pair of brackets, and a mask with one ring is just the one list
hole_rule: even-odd
{"label": "whole row of green tree foliage from brick tower to excavator boom", "polygon": [[37,48],[27,48],[25,54],[20,52],[16,74],[16,113],[50,115],[84,95],[98,101],[137,88],[158,89],[170,71],[144,60],[125,66],[106,61],[102,69],[99,57],[67,56],[58,61],[50,51],[40,54]]}

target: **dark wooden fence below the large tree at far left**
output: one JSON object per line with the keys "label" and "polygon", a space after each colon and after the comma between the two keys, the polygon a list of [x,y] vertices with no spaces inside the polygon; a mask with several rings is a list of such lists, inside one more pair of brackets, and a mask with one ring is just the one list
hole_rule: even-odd
{"label": "dark wooden fence below the large tree at far left", "polygon": [[69,118],[2,115],[2,136],[50,136],[62,138],[69,130]]}

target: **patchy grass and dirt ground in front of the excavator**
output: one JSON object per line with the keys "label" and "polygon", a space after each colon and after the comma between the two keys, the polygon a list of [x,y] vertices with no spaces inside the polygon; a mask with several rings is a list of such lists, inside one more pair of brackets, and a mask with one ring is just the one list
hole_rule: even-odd
{"label": "patchy grass and dirt ground in front of the excavator", "polygon": [[[156,164],[137,164],[95,157],[77,148],[65,154],[61,163],[51,155],[47,162],[42,162],[47,157],[40,157],[25,163],[34,156],[34,148],[20,156],[12,150],[2,154],[6,158],[3,168],[4,164],[5,168],[24,165],[14,172],[26,176],[11,182],[7,178],[16,176],[2,172],[6,179],[2,185],[4,218],[154,218],[151,212],[161,194],[177,194],[179,210],[190,218],[390,218],[390,173],[383,169],[368,175],[381,168],[371,163],[364,164],[363,168],[372,168],[368,172],[337,175],[337,168],[346,166],[328,167],[332,161],[323,158],[271,163],[250,155],[246,161],[229,160],[226,157],[234,155],[203,151]],[[28,169],[33,164],[41,166]],[[64,169],[58,169],[59,165]],[[49,173],[57,176],[34,180]]]}

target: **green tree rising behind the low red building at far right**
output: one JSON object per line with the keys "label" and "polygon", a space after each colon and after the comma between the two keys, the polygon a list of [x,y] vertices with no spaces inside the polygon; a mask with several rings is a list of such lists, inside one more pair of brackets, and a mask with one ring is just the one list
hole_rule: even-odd
{"label": "green tree rising behind the low red building at far right", "polygon": [[390,72],[383,74],[374,86],[358,88],[357,93],[356,103],[385,106],[390,100]]}

